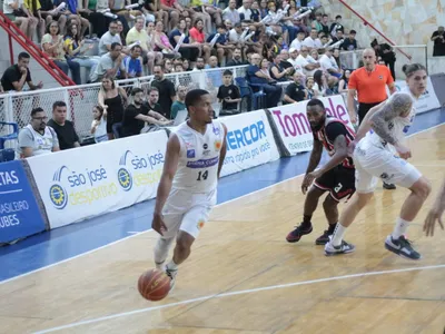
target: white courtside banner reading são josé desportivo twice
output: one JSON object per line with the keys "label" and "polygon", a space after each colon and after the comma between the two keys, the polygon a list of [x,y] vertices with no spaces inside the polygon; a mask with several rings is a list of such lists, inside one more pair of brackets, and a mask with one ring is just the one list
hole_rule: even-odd
{"label": "white courtside banner reading s\u00e3o jos\u00e9 desportivo twice", "polygon": [[28,159],[51,228],[155,198],[166,131]]}

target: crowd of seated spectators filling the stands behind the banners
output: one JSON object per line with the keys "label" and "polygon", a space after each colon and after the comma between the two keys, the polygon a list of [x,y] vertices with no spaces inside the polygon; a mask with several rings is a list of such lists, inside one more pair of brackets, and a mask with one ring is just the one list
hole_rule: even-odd
{"label": "crowd of seated spectators filling the stands behind the banners", "polygon": [[[345,94],[352,69],[339,55],[359,48],[356,31],[347,30],[340,16],[329,18],[317,1],[6,0],[3,12],[29,39],[36,31],[34,42],[77,85],[82,84],[80,68],[88,71],[88,82],[101,84],[91,110],[96,143],[172,125],[184,117],[194,72],[205,69],[215,69],[207,77],[219,115],[241,110],[246,87],[264,95],[261,107]],[[390,47],[377,41],[373,47],[390,65]],[[31,79],[29,60],[21,52],[4,71],[4,91],[21,91],[26,84],[42,88]],[[234,66],[246,66],[243,80],[234,80]],[[168,73],[180,73],[179,85]],[[152,76],[149,89],[127,91],[118,85],[119,79],[145,76]],[[79,138],[62,117],[61,104],[55,104],[48,124],[34,108],[27,126],[33,137],[21,135],[19,141],[23,136],[26,143],[37,140],[37,131],[44,140],[33,143],[46,143],[47,150],[76,147]],[[38,130],[43,124],[53,131]]]}

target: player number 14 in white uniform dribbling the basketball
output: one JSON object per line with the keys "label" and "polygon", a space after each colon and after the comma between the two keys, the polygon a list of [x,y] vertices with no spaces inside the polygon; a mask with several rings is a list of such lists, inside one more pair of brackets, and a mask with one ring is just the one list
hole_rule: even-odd
{"label": "player number 14 in white uniform dribbling the basketball", "polygon": [[[194,89],[186,96],[189,120],[171,134],[158,186],[152,228],[160,234],[155,246],[156,267],[175,285],[178,266],[207,223],[216,204],[219,173],[226,156],[227,128],[212,120],[211,97]],[[165,265],[176,238],[172,259]]]}

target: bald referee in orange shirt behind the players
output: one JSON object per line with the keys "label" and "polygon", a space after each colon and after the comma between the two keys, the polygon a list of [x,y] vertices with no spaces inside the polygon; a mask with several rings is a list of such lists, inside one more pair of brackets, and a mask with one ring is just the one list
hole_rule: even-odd
{"label": "bald referee in orange shirt behind the players", "polygon": [[[389,92],[396,91],[393,76],[386,66],[376,63],[374,49],[363,51],[364,67],[356,69],[349,77],[347,107],[353,124],[357,124],[354,98],[358,97],[358,121],[365,118],[370,108],[382,104],[388,98],[386,86]],[[395,189],[395,185],[383,184],[385,189]]]}

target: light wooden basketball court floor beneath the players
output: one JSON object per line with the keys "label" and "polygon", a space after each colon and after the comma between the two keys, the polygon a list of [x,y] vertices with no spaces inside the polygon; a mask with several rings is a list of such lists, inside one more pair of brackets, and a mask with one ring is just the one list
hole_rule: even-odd
{"label": "light wooden basketball court floor beneath the players", "polygon": [[164,301],[147,302],[136,287],[152,266],[148,232],[0,284],[0,333],[442,334],[445,232],[426,238],[422,223],[445,175],[445,126],[408,141],[412,163],[433,183],[408,230],[419,262],[384,248],[407,195],[400,188],[379,187],[352,225],[354,254],[326,257],[314,244],[326,227],[320,209],[313,234],[288,244],[304,203],[296,177],[216,207]]}

